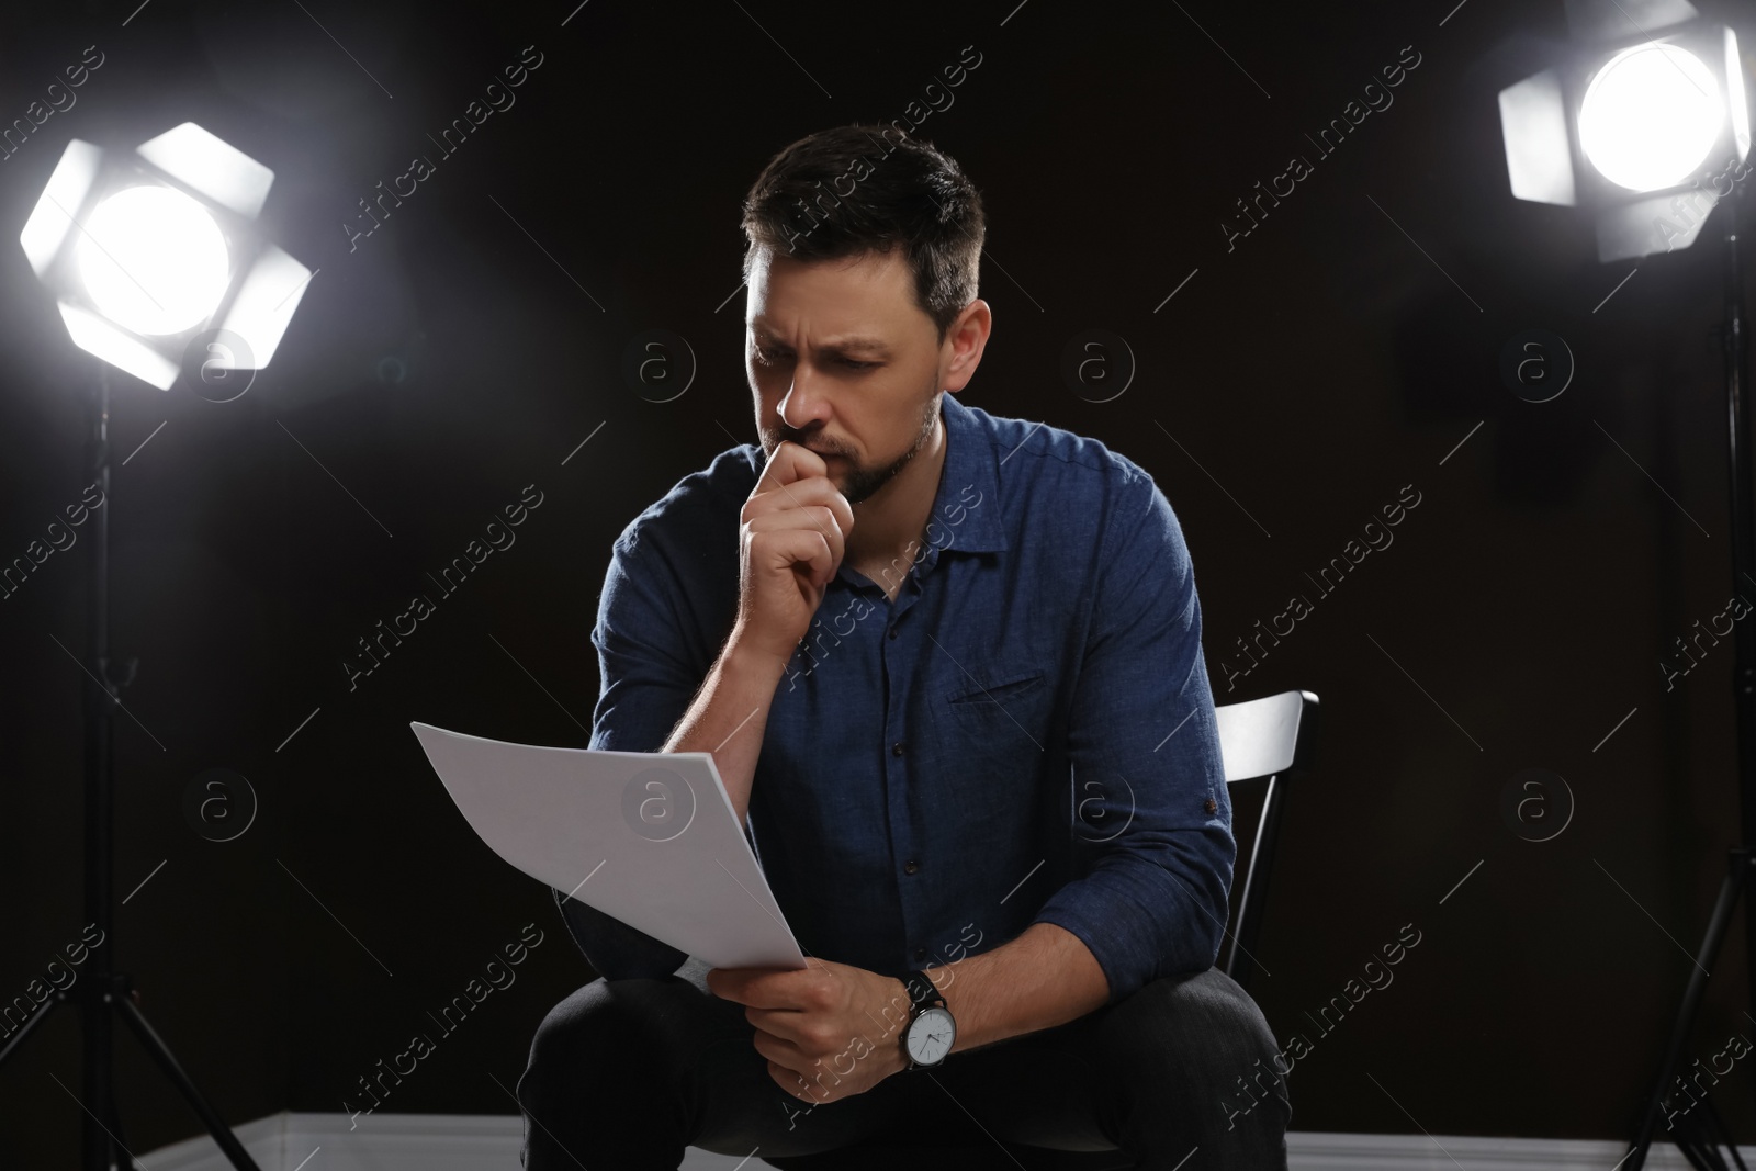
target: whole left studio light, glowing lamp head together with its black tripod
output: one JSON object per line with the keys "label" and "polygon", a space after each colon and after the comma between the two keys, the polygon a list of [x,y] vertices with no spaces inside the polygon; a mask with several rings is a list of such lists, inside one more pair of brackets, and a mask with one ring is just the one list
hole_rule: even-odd
{"label": "whole left studio light, glowing lamp head together with its black tripod", "polygon": [[[90,483],[111,493],[111,367],[170,390],[190,372],[204,399],[230,402],[269,365],[311,272],[262,237],[256,216],[274,172],[195,123],[183,123],[132,153],[74,139],[19,232],[37,277],[54,293],[76,346],[95,355]],[[244,370],[251,374],[242,376]],[[221,397],[212,392],[220,390]],[[163,425],[163,423],[160,423]],[[144,446],[144,444],[142,444]],[[126,463],[126,460],[123,460]],[[107,939],[114,918],[114,715],[135,660],[121,671],[109,648],[109,518],[95,509],[86,646],[86,918]],[[44,1001],[0,1046],[5,1062],[60,1004],[84,1025],[79,1103],[84,1171],[133,1166],[123,1148],[114,1096],[111,1025],[133,1031],[148,1055],[202,1120],[235,1171],[258,1171],[244,1145],[184,1073],[140,1011],[133,981],[112,966],[114,946],[93,948],[91,971],[72,995]]]}

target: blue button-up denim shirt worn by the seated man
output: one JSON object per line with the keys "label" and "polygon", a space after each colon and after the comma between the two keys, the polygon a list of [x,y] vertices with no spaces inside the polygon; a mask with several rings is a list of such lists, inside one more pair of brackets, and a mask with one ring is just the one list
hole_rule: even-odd
{"label": "blue button-up denim shirt worn by the seated man", "polygon": [[[1098,441],[950,393],[941,413],[901,590],[843,562],[774,692],[745,825],[762,873],[806,955],[880,974],[1038,922],[1090,948],[1110,1002],[1206,971],[1236,843],[1177,516]],[[657,751],[688,709],[738,613],[764,463],[720,453],[616,539],[592,748]],[[688,959],[555,897],[608,980]]]}

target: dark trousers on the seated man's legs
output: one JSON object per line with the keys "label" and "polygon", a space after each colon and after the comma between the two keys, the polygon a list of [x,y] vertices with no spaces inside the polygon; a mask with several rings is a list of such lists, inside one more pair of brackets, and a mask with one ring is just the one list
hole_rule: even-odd
{"label": "dark trousers on the seated man's legs", "polygon": [[[1003,1141],[1122,1150],[1140,1171],[1287,1166],[1275,1036],[1219,969],[822,1104],[774,1083],[753,1032],[745,1006],[699,976],[581,987],[543,1020],[518,1081],[525,1169],[676,1171],[685,1146],[787,1167],[788,1155],[885,1141],[976,1143],[1006,1167]],[[982,1159],[959,1160],[971,1166]]]}

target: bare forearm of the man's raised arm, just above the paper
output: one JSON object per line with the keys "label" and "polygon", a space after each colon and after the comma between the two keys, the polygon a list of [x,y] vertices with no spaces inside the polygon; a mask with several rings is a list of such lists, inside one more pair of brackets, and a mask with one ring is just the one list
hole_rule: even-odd
{"label": "bare forearm of the man's raised arm, just above the paper", "polygon": [[785,660],[745,643],[734,630],[702,679],[695,702],[660,748],[713,753],[713,767],[720,771],[739,825],[750,808],[750,785],[757,774],[757,757],[762,755],[767,709],[785,672]]}

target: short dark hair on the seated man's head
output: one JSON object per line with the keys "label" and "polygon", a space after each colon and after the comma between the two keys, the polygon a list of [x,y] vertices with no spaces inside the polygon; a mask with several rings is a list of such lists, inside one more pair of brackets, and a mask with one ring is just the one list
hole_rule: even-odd
{"label": "short dark hair on the seated man's head", "polygon": [[976,297],[982,193],[925,139],[894,126],[818,130],[769,160],[745,197],[745,277],[760,248],[839,260],[901,246],[939,341]]}

